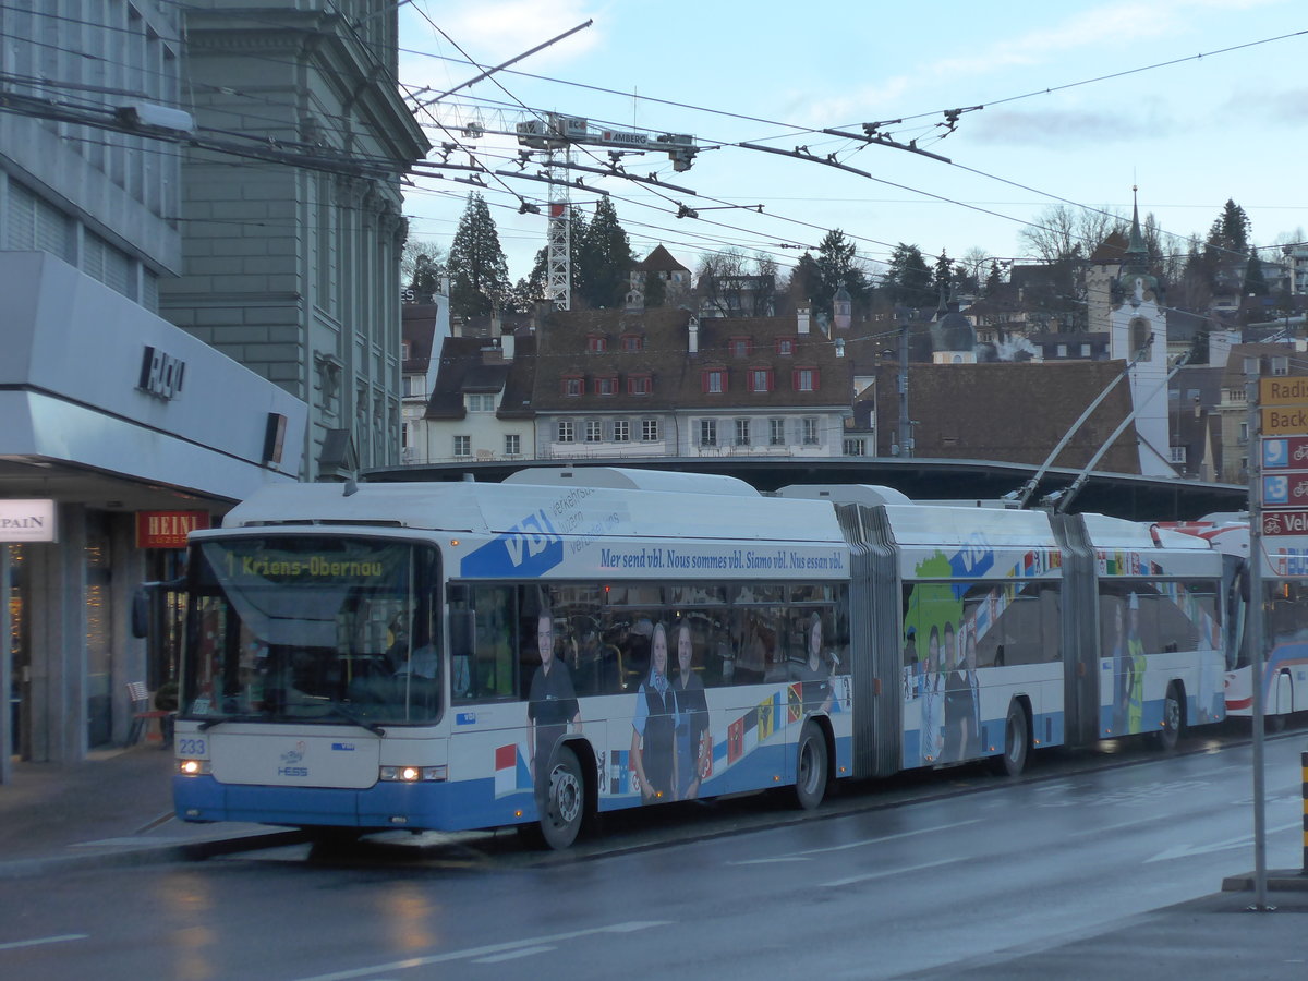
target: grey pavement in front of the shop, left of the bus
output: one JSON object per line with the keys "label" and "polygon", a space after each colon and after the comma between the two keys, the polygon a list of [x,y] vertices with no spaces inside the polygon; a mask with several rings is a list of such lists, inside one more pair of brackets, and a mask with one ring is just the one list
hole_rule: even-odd
{"label": "grey pavement in front of the shop, left of the bus", "polygon": [[300,840],[263,824],[177,820],[171,773],[173,752],[157,743],[94,751],[73,766],[14,763],[13,782],[0,785],[0,879]]}

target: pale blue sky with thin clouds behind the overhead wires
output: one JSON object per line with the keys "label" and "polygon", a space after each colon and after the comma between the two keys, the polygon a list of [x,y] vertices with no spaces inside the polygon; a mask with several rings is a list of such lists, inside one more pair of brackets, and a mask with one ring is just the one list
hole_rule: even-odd
{"label": "pale blue sky with thin clouds behind the overhead wires", "polygon": [[[1308,226],[1303,0],[412,0],[400,12],[402,80],[428,89],[416,95],[428,102],[479,72],[459,48],[494,65],[586,20],[496,73],[498,84],[447,95],[419,120],[434,145],[473,148],[496,170],[517,170],[506,160],[517,141],[468,141],[463,127],[511,132],[556,111],[596,129],[693,135],[702,149],[688,171],[653,153],[621,161],[680,190],[582,175],[613,195],[638,258],[663,242],[691,268],[723,246],[787,266],[833,228],[874,271],[897,242],[927,256],[980,247],[1020,258],[1024,222],[1059,199],[1129,212],[1133,184],[1141,216],[1154,212],[1177,235],[1205,234],[1228,198],[1260,245]],[[950,132],[954,109],[971,111]],[[821,132],[872,122],[951,162]],[[807,146],[870,177],[743,143]],[[600,148],[573,158],[607,162]],[[470,156],[455,150],[449,162]],[[415,179],[412,235],[449,246],[470,191],[458,177]],[[551,191],[484,179],[517,280],[545,241],[544,217],[519,215],[519,204],[544,207]],[[595,190],[570,195],[594,208]],[[700,217],[678,218],[683,204]],[[760,204],[763,213],[726,207]]]}

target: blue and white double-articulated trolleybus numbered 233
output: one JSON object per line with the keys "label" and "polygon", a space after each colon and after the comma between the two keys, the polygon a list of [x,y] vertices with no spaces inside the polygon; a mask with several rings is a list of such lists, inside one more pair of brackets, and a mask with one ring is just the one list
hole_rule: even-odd
{"label": "blue and white double-articulated trolleybus numbered 233", "polygon": [[1222,556],[731,477],[269,488],[191,536],[178,815],[539,825],[1224,715]]}

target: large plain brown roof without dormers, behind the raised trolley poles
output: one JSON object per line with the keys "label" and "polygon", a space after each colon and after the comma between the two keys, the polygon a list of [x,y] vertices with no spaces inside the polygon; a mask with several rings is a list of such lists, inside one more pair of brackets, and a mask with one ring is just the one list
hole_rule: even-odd
{"label": "large plain brown roof without dormers, behind the raised trolley poles", "polygon": [[[909,413],[916,455],[1039,466],[1086,407],[1121,374],[1121,361],[1054,364],[910,365]],[[878,453],[899,434],[896,365],[876,375]],[[1054,466],[1084,466],[1131,409],[1118,385],[1063,449]],[[1127,429],[1096,470],[1139,473],[1135,434]]]}

